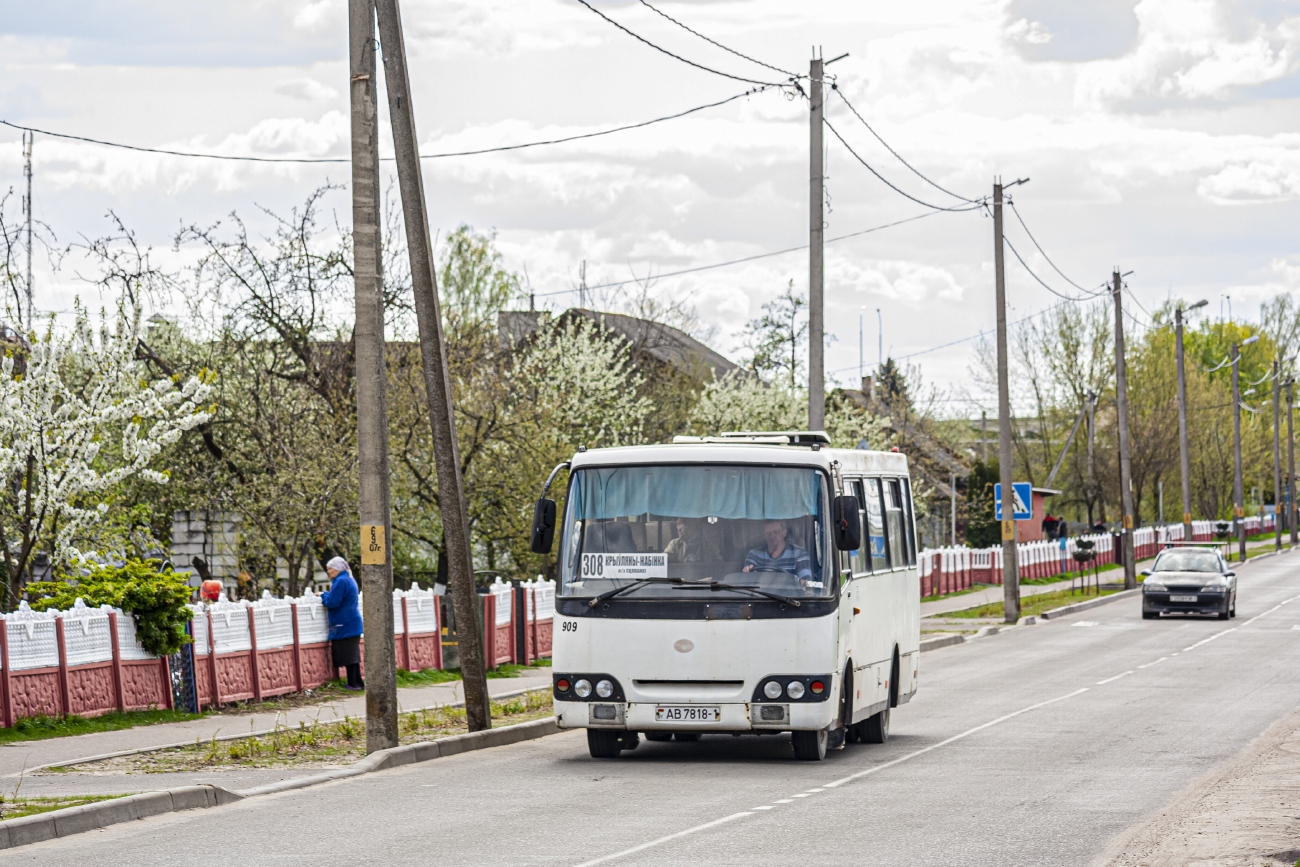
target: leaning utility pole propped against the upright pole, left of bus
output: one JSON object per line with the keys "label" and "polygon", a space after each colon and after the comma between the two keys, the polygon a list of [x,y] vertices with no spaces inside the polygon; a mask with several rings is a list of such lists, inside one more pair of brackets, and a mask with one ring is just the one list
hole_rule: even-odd
{"label": "leaning utility pole propped against the upright pole, left of bus", "polygon": [[[367,3],[367,0],[351,1]],[[434,274],[433,243],[429,235],[429,214],[417,149],[419,138],[411,104],[402,13],[398,0],[378,0],[376,9],[380,18],[380,42],[384,45],[384,81],[389,94],[389,114],[393,118],[398,186],[402,188],[402,214],[411,256],[411,283],[415,290],[415,315],[420,329],[424,387],[429,398],[429,424],[433,428],[438,506],[442,513],[442,538],[447,550],[447,585],[451,589],[451,604],[456,615],[460,673],[465,690],[465,721],[471,732],[477,732],[491,727],[488,681],[484,679],[484,645],[478,632],[477,611],[481,603],[474,591],[473,560],[469,554],[469,524],[465,520],[465,495],[460,478],[460,448],[456,443],[456,420],[452,415],[451,376],[447,372],[442,316],[438,311],[438,281]],[[385,597],[385,604],[390,598],[391,594]],[[389,645],[391,643],[390,641]]]}

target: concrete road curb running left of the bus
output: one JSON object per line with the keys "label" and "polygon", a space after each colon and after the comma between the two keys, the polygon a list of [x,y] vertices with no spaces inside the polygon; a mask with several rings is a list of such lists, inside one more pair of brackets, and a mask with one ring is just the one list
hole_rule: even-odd
{"label": "concrete road curb running left of the bus", "polygon": [[[497,695],[494,698],[500,697]],[[309,777],[272,783],[270,785],[246,789],[243,792],[230,792],[229,789],[209,784],[188,785],[176,789],[162,789],[160,792],[130,794],[124,798],[87,803],[79,807],[52,810],[35,816],[8,819],[0,822],[0,849],[14,849],[56,837],[70,837],[86,831],[107,828],[124,822],[147,819],[166,812],[220,807],[247,798],[306,789],[324,783],[334,783],[406,764],[532,741],[547,734],[558,734],[560,731],[552,716],[530,723],[488,729],[486,732],[452,734],[450,737],[439,737],[436,741],[422,741],[420,744],[407,744],[387,750],[377,750],[347,768],[315,773]]]}

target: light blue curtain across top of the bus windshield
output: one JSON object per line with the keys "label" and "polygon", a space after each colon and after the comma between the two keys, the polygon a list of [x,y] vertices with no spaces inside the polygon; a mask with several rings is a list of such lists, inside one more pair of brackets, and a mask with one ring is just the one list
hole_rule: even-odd
{"label": "light blue curtain across top of the bus windshield", "polygon": [[632,515],[792,520],[818,513],[822,477],[786,467],[618,467],[582,469],[576,516]]}

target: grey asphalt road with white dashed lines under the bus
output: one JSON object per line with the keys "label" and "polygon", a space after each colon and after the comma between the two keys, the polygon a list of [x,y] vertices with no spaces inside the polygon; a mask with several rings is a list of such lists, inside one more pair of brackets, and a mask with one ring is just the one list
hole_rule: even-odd
{"label": "grey asphalt road with white dashed lines under the bus", "polygon": [[819,764],[785,737],[598,762],[566,733],[0,861],[1088,864],[1300,703],[1300,555],[1244,567],[1238,612],[1153,623],[1124,599],[928,653],[889,744]]}

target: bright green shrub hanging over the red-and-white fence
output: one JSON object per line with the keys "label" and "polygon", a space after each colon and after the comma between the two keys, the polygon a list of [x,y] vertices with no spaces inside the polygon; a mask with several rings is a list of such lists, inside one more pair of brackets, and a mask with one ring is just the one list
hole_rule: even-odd
{"label": "bright green shrub hanging over the red-and-white fence", "polygon": [[186,576],[159,572],[144,560],[122,565],[92,565],[90,575],[73,581],[35,581],[27,585],[36,611],[72,608],[83,599],[96,608],[109,604],[135,617],[135,637],[155,656],[174,654],[190,643],[185,624],[190,620],[190,586]]}

